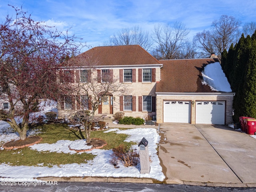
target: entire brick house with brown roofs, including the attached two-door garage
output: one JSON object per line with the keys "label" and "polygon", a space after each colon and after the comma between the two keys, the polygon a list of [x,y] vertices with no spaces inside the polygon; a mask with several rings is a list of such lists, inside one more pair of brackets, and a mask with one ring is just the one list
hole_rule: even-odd
{"label": "entire brick house with brown roofs, including the attached two-door garage", "polygon": [[[96,114],[112,116],[122,111],[125,116],[154,116],[158,123],[232,123],[234,93],[214,90],[202,77],[207,65],[219,64],[216,58],[156,60],[139,45],[94,47],[77,58],[88,56],[99,61],[97,72],[88,74],[80,63],[70,72],[72,83],[110,74],[130,90],[121,96],[110,94]],[[102,80],[98,78],[98,83]],[[92,109],[90,96],[79,99],[86,103],[88,110]],[[77,98],[62,98],[58,102],[59,117],[74,113],[80,107]]]}

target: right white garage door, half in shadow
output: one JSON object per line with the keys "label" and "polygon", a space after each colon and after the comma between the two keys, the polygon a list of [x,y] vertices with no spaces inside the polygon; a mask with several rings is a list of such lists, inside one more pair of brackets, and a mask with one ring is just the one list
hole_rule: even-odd
{"label": "right white garage door, half in shadow", "polygon": [[225,101],[197,101],[196,124],[225,124]]}

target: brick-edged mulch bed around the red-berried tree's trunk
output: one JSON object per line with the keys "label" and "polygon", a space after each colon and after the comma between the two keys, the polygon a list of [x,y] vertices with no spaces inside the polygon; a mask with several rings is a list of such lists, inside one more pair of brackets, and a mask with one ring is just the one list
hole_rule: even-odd
{"label": "brick-edged mulch bed around the red-berried tree's trunk", "polygon": [[30,136],[25,140],[12,140],[3,144],[4,149],[16,149],[16,148],[24,148],[34,144],[37,144],[42,141],[42,137],[40,136]]}

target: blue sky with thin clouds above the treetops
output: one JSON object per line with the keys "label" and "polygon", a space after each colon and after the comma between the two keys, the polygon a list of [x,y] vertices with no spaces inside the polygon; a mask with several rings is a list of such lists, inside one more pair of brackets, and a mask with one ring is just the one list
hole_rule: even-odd
{"label": "blue sky with thin clouds above the treetops", "polygon": [[189,36],[209,30],[221,15],[234,16],[242,23],[256,22],[256,0],[0,0],[0,20],[15,16],[8,6],[22,6],[38,21],[100,46],[124,27],[140,26],[151,33],[157,24],[182,22]]}

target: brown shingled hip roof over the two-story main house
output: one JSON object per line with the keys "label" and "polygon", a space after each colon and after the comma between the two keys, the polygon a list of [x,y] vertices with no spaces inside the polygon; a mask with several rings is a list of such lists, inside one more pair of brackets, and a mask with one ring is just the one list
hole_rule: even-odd
{"label": "brown shingled hip roof over the two-story main house", "polygon": [[75,58],[86,56],[90,56],[90,60],[98,60],[102,66],[160,64],[139,45],[94,47]]}

